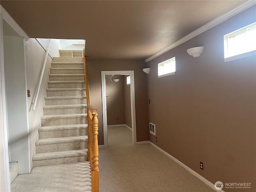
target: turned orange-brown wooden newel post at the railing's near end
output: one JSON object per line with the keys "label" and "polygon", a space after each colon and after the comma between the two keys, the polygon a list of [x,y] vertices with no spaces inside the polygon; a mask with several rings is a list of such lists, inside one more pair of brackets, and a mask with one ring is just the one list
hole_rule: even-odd
{"label": "turned orange-brown wooden newel post at the railing's near end", "polygon": [[98,162],[98,118],[97,113],[92,113],[92,192],[99,191],[99,162]]}

